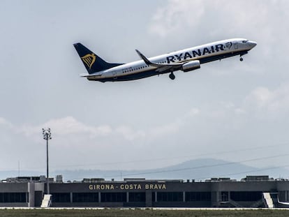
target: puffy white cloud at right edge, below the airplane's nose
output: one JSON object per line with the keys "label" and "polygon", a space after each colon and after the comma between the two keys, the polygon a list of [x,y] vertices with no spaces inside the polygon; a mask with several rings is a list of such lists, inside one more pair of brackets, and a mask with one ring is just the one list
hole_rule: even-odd
{"label": "puffy white cloud at right edge, below the airplane's nose", "polygon": [[232,102],[220,102],[216,107],[207,107],[202,111],[206,117],[215,120],[248,118],[283,119],[289,113],[289,82],[280,84],[275,89],[256,87],[244,96],[239,105]]}

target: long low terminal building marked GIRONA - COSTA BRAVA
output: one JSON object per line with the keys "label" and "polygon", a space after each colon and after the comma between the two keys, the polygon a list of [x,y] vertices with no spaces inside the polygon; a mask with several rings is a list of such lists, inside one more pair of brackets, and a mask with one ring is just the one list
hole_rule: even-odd
{"label": "long low terminal building marked GIRONA - COSTA BRAVA", "polygon": [[[194,180],[49,181],[51,207],[289,207],[289,180],[247,176]],[[0,182],[0,207],[40,207],[45,177]]]}

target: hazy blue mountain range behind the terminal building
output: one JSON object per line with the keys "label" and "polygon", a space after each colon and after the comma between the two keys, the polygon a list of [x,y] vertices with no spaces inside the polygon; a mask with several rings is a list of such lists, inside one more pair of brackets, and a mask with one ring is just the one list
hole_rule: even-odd
{"label": "hazy blue mountain range behind the terminal building", "polygon": [[[21,171],[20,173],[21,176],[39,176],[40,174],[45,173],[36,171]],[[214,158],[202,158],[154,170],[55,170],[50,173],[50,177],[57,174],[63,175],[64,181],[81,181],[84,178],[105,180],[126,178],[195,179],[195,181],[200,181],[216,177],[240,180],[247,175],[269,175],[269,177],[277,179],[289,177],[289,170],[282,167],[258,168]],[[0,171],[0,179],[17,176],[18,172],[16,171]]]}

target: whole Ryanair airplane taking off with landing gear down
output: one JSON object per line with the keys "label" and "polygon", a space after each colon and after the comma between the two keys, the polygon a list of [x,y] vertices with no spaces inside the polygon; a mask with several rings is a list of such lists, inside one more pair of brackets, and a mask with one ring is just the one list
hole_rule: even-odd
{"label": "whole Ryanair airplane taking off with landing gear down", "polygon": [[237,55],[240,56],[240,61],[243,61],[242,56],[255,45],[257,43],[245,38],[232,38],[151,58],[147,58],[140,51],[135,50],[141,60],[131,63],[108,63],[81,43],[75,43],[74,47],[88,72],[81,74],[81,77],[98,82],[120,82],[165,73],[170,73],[170,79],[175,80],[175,71],[182,70],[186,73],[200,68],[202,63]]}

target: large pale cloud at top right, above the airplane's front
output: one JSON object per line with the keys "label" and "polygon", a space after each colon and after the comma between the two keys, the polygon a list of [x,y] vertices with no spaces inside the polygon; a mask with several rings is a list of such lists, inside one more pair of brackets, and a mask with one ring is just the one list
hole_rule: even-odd
{"label": "large pale cloud at top right, above the airplane's front", "polygon": [[[276,34],[276,25],[288,20],[288,8],[288,1],[170,0],[156,10],[148,30],[161,38],[170,34],[183,39],[236,36],[258,38],[258,44],[267,45],[287,34],[286,25]],[[264,55],[270,52],[269,46],[262,47]]]}

